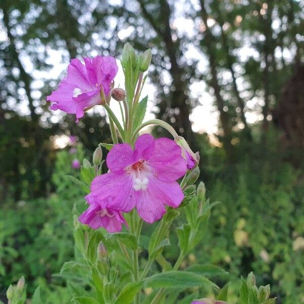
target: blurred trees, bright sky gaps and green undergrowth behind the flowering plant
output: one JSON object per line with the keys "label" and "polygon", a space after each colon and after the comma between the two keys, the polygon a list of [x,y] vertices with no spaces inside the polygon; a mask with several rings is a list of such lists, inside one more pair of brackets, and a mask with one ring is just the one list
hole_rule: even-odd
{"label": "blurred trees, bright sky gaps and green undergrowth behind the flowering plant", "polygon": [[0,299],[24,275],[46,302],[69,301],[56,273],[73,256],[71,210],[84,193],[66,175],[77,176],[72,160],[110,135],[102,109],[75,124],[51,112],[46,96],[70,58],[118,57],[129,42],[153,50],[150,115],[200,151],[207,196],[222,202],[188,263],[212,262],[236,279],[253,271],[278,303],[304,303],[303,8],[302,0],[2,0]]}

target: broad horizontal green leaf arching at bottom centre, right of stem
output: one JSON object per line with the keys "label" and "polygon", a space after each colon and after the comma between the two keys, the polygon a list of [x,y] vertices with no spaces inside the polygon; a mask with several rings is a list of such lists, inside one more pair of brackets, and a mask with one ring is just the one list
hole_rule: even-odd
{"label": "broad horizontal green leaf arching at bottom centre, right of stem", "polygon": [[172,270],[148,277],[144,282],[144,287],[188,288],[200,287],[206,284],[216,287],[210,280],[198,274]]}

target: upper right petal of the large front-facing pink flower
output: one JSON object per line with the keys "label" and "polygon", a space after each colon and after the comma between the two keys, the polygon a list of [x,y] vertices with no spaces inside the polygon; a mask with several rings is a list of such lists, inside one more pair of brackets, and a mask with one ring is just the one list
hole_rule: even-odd
{"label": "upper right petal of the large front-facing pink flower", "polygon": [[177,180],[186,173],[187,167],[181,156],[181,147],[169,138],[157,138],[153,155],[148,161],[163,181]]}

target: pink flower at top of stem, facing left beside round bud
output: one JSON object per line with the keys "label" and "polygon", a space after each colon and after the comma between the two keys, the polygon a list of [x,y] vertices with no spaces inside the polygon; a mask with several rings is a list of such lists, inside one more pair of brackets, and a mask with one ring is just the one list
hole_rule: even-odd
{"label": "pink flower at top of stem, facing left beside round bud", "polygon": [[76,114],[76,121],[84,116],[84,111],[101,104],[100,88],[104,94],[110,92],[110,83],[118,71],[115,58],[97,56],[84,57],[85,64],[72,59],[67,67],[67,76],[60,82],[59,88],[47,97],[52,101],[52,110],[63,110]]}

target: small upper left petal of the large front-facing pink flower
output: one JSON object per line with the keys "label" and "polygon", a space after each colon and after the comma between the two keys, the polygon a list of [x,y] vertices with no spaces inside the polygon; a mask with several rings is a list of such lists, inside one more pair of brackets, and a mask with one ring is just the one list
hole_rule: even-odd
{"label": "small upper left petal of the large front-facing pink flower", "polygon": [[133,150],[127,143],[115,144],[106,157],[106,165],[112,172],[124,170],[133,163]]}

